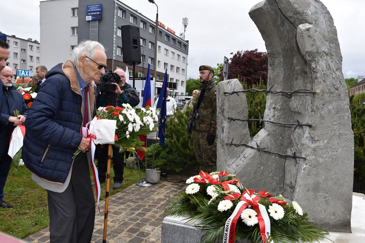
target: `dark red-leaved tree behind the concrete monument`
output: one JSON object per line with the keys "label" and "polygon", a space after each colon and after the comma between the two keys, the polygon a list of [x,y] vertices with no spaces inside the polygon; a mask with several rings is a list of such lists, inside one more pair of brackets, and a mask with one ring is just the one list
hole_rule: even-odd
{"label": "dark red-leaved tree behind the concrete monument", "polygon": [[[230,53],[233,55],[233,52]],[[268,81],[268,54],[257,49],[237,51],[230,58],[228,79],[244,79],[248,85],[256,84],[261,79]]]}

